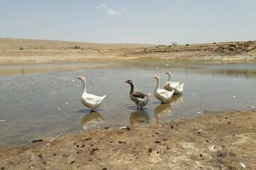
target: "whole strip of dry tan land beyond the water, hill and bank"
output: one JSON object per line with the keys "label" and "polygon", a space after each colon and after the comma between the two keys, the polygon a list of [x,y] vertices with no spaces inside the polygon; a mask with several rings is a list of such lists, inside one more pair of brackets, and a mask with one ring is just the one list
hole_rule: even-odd
{"label": "whole strip of dry tan land beyond the water, hill and bank", "polygon": [[256,61],[256,41],[138,45],[0,38],[0,63],[85,62],[143,58]]}

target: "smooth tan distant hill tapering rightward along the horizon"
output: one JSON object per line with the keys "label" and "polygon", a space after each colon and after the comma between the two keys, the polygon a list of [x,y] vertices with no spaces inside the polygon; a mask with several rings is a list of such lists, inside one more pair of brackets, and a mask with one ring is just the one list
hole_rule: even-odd
{"label": "smooth tan distant hill tapering rightward along the horizon", "polygon": [[30,39],[16,39],[16,38],[0,38],[0,50],[65,50],[74,49],[76,47],[88,49],[120,49],[120,48],[138,48],[138,47],[152,47],[156,45],[144,44],[100,44],[90,42],[72,42],[59,40],[30,40]]}

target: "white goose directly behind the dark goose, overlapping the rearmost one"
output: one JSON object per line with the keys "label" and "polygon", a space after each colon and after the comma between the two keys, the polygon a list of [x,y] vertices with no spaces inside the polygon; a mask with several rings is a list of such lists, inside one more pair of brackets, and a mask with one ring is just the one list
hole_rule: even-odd
{"label": "white goose directly behind the dark goose, overlapping the rearmost one", "polygon": [[160,89],[160,78],[158,75],[154,77],[156,79],[156,90],[154,95],[156,96],[159,101],[162,103],[169,103],[171,101],[171,97],[174,95],[173,91],[166,91],[165,89]]}

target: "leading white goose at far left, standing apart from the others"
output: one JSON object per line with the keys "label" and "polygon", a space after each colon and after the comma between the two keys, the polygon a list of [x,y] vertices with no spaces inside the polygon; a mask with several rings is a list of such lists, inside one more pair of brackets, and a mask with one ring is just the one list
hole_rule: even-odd
{"label": "leading white goose at far left, standing apart from the others", "polygon": [[77,79],[82,80],[82,85],[83,85],[83,91],[82,91],[82,96],[81,96],[82,104],[85,105],[87,108],[92,109],[92,111],[95,108],[100,107],[100,105],[101,105],[103,99],[106,97],[106,95],[101,97],[101,96],[95,96],[94,94],[87,94],[85,77],[80,76],[80,77],[77,77]]}

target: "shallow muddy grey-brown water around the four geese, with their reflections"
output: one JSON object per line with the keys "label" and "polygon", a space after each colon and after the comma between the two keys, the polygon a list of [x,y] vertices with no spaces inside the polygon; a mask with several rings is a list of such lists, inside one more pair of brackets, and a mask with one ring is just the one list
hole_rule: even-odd
{"label": "shallow muddy grey-brown water around the four geese, with their reflections", "polygon": [[[0,66],[0,142],[20,144],[62,133],[92,128],[158,124],[256,106],[255,63],[127,61],[112,63],[18,64]],[[23,70],[23,71],[22,71]],[[171,71],[172,81],[185,84],[182,96],[161,105],[154,97],[155,74],[161,87]],[[80,103],[82,82],[87,92],[107,95],[97,112]],[[136,111],[129,84],[151,93],[144,111]]]}

